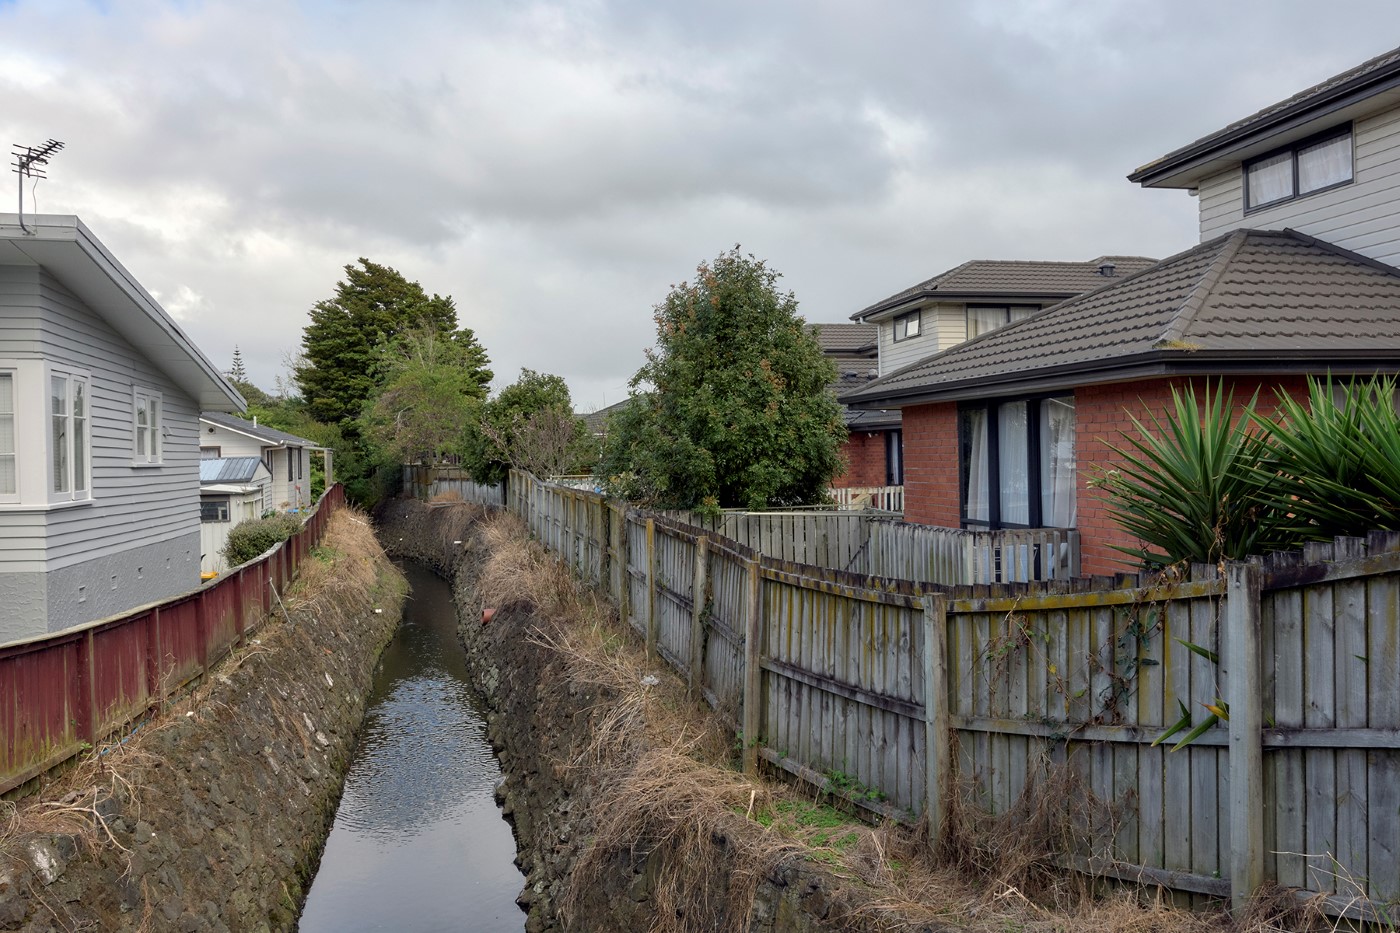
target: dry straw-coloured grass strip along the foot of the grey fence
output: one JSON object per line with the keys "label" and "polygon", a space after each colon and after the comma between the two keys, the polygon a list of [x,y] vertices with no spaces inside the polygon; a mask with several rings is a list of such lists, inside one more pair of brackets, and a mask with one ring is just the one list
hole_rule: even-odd
{"label": "dry straw-coloured grass strip along the foot of the grey fence", "polygon": [[490,555],[477,587],[483,604],[531,607],[531,640],[566,663],[560,689],[589,698],[591,740],[566,766],[595,773],[602,796],[591,804],[599,821],[570,876],[566,915],[577,919],[608,873],[647,859],[651,929],[742,930],[757,885],[797,860],[830,881],[826,922],[853,930],[1331,929],[1316,905],[1270,892],[1245,922],[1231,923],[1224,913],[1177,909],[1149,885],[1105,887],[1065,870],[1064,853],[1113,838],[1117,814],[1072,769],[1049,761],[1002,815],[959,787],[941,852],[930,850],[921,825],[871,827],[834,797],[750,780],[735,769],[731,726],[648,663],[637,636],[531,542],[518,518],[494,517],[482,534]]}

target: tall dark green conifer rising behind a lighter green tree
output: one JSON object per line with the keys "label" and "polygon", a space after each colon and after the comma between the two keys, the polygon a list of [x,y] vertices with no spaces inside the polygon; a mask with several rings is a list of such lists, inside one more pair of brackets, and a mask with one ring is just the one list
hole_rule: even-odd
{"label": "tall dark green conifer rising behind a lighter green tree", "polygon": [[[403,331],[420,322],[441,333],[456,331],[451,297],[428,296],[417,282],[364,258],[358,268],[344,269],[336,296],[311,308],[295,370],[297,387],[312,417],[330,424],[360,416],[382,385],[385,345]],[[475,342],[469,331],[466,335]]]}

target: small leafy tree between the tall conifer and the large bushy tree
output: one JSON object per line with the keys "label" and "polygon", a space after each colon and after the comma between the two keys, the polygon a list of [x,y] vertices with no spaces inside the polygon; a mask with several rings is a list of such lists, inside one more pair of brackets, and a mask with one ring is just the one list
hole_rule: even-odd
{"label": "small leafy tree between the tall conifer and the large bushy tree", "polygon": [[528,368],[482,406],[465,444],[462,464],[482,483],[501,482],[510,466],[553,476],[584,472],[594,459],[584,419],[574,415],[568,384],[559,375]]}

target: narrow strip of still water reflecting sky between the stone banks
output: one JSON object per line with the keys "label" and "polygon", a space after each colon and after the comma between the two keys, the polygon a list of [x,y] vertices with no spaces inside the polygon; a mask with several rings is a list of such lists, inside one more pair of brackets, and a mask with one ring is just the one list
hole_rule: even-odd
{"label": "narrow strip of still water reflecting sky between the stone banks", "polygon": [[524,880],[496,807],[500,765],[472,691],[451,588],[405,565],[384,651],[301,933],[519,933]]}

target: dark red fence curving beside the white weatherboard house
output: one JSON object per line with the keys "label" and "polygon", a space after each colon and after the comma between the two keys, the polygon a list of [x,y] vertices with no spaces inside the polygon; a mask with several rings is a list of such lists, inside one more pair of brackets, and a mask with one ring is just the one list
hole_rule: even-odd
{"label": "dark red fence curving beside the white weatherboard house", "polygon": [[197,590],[0,646],[0,793],[139,720],[242,644],[343,504],[332,486],[297,534]]}

